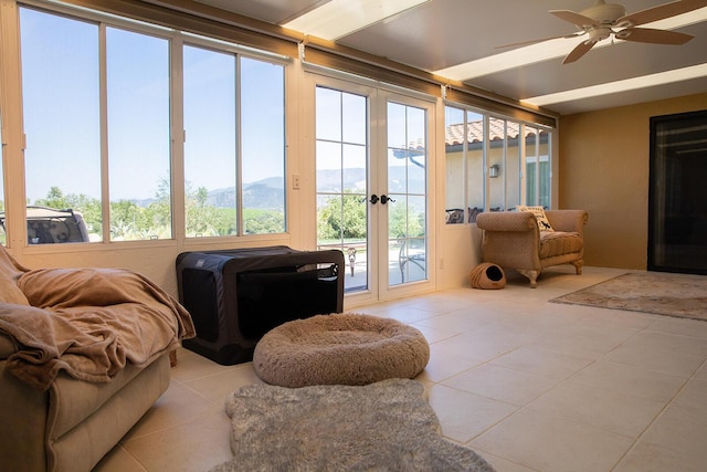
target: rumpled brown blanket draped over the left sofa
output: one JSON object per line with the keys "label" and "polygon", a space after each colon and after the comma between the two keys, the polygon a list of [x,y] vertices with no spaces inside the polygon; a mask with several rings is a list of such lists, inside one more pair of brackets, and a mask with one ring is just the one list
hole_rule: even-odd
{"label": "rumpled brown blanket draped over the left sofa", "polygon": [[126,270],[42,269],[20,275],[30,305],[0,303],[0,332],[18,350],[7,369],[46,390],[60,370],[108,381],[194,336],[189,313],[148,279]]}

